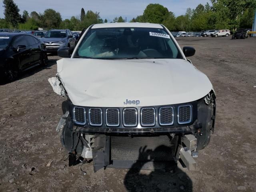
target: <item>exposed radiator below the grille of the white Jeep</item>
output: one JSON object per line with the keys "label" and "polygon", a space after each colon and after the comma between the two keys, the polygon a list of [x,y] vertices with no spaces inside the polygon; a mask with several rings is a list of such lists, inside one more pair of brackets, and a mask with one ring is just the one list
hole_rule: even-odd
{"label": "exposed radiator below the grille of the white Jeep", "polygon": [[[146,146],[145,151],[140,153]],[[111,160],[174,160],[176,137],[169,136],[111,136]]]}

